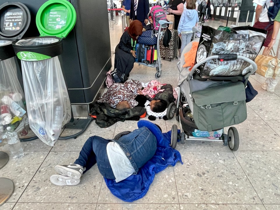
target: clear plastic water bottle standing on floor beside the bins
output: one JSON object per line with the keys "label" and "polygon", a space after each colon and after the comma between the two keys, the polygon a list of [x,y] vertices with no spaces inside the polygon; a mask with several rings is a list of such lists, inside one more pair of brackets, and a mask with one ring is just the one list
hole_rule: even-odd
{"label": "clear plastic water bottle standing on floor beside the bins", "polygon": [[10,132],[11,127],[7,127],[6,138],[8,145],[10,146],[10,151],[14,159],[23,157],[23,149],[20,145],[20,139],[17,136],[17,132]]}

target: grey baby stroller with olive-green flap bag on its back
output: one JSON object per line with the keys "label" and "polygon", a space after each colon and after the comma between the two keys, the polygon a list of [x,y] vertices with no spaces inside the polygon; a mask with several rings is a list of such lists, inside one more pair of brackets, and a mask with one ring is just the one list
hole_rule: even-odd
{"label": "grey baby stroller with olive-green flap bag on its back", "polygon": [[[198,39],[194,41],[199,41]],[[183,50],[190,50],[192,42]],[[195,74],[196,69],[205,62],[218,59],[229,61],[240,59],[246,61],[250,71],[238,76],[216,76],[202,78]],[[237,54],[218,54],[206,57],[190,67],[183,67],[184,59],[178,62],[178,100],[176,120],[180,122],[181,133],[177,134],[177,125],[172,126],[171,146],[176,147],[177,140],[184,144],[186,139],[223,141],[232,151],[239,148],[239,135],[235,127],[230,127],[227,134],[223,128],[236,125],[247,117],[245,88],[248,77],[257,70],[255,62]],[[242,71],[241,71],[242,72]]]}

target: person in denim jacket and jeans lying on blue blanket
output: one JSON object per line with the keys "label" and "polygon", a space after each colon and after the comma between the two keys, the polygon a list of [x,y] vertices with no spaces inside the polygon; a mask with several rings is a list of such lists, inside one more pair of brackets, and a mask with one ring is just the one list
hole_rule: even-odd
{"label": "person in denim jacket and jeans lying on blue blanket", "polygon": [[59,174],[52,175],[50,181],[59,186],[77,185],[95,163],[102,176],[116,182],[137,174],[155,154],[161,133],[160,127],[149,121],[143,120],[141,126],[118,140],[91,136],[74,164],[55,166]]}

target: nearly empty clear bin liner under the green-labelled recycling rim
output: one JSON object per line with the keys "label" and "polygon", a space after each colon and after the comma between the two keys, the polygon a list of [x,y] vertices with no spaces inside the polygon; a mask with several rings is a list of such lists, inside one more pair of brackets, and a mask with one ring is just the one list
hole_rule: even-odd
{"label": "nearly empty clear bin liner under the green-labelled recycling rim", "polygon": [[[55,38],[20,40],[19,44],[43,45]],[[58,39],[57,39],[58,41]],[[71,104],[58,57],[41,61],[21,61],[29,125],[49,146],[60,136],[71,119]]]}

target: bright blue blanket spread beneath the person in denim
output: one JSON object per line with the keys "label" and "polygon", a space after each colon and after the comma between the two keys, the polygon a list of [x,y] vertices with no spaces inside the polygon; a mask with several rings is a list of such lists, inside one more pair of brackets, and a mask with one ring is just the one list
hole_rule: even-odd
{"label": "bright blue blanket spread beneath the person in denim", "polygon": [[139,169],[136,175],[131,175],[125,180],[116,183],[115,180],[104,178],[107,187],[113,195],[123,201],[133,202],[142,198],[148,192],[155,174],[164,170],[169,165],[174,166],[178,161],[183,164],[178,150],[173,149],[169,145],[171,131],[162,134],[160,130],[153,125],[153,123],[146,120],[140,120],[138,122],[139,128],[143,126],[148,127],[156,136],[157,150],[155,155]]}

